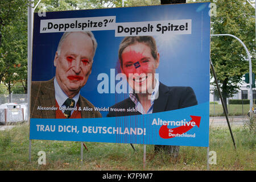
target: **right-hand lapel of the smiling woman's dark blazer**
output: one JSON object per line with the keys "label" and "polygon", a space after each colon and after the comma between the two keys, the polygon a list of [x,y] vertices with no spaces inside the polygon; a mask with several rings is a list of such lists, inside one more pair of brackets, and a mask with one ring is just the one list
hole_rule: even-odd
{"label": "right-hand lapel of the smiling woman's dark blazer", "polygon": [[159,82],[158,99],[154,101],[153,113],[158,113],[166,110],[168,103],[168,86]]}

